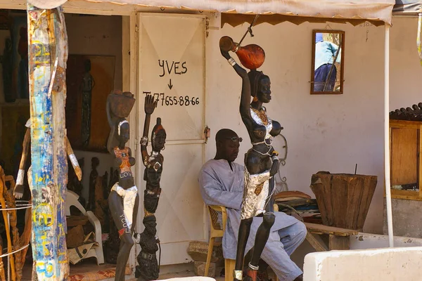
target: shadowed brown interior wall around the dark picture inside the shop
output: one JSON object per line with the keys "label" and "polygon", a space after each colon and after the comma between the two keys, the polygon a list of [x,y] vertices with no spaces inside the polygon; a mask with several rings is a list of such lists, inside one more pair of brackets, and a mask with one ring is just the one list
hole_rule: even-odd
{"label": "shadowed brown interior wall around the dark picture inside the shop", "polygon": [[[69,54],[80,55],[114,55],[115,56],[115,89],[122,89],[122,17],[92,16],[65,14],[68,30]],[[101,83],[101,81],[96,81]],[[104,105],[106,106],[106,105]],[[91,173],[91,158],[98,157],[98,175],[107,171],[110,179],[110,167],[113,166],[113,156],[108,153],[87,152],[75,150],[78,159],[85,158],[82,171],[82,196],[88,202],[89,174]]]}

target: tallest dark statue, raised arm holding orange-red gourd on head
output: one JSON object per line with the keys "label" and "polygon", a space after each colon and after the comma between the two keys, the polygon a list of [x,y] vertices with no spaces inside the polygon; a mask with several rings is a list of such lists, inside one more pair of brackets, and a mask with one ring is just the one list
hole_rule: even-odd
{"label": "tallest dark statue, raised arm holding orange-red gourd on head", "polygon": [[[278,153],[272,147],[272,140],[279,135],[282,127],[279,122],[269,119],[265,107],[262,106],[271,100],[269,77],[256,70],[264,63],[264,50],[257,45],[240,47],[230,37],[222,37],[220,51],[242,78],[240,113],[252,143],[252,148],[245,154],[245,192],[241,207],[234,279],[255,281],[258,262],[275,219],[272,194],[274,175],[279,171],[280,162]],[[241,63],[251,69],[250,72],[238,65],[229,55],[229,51],[236,52]],[[250,224],[255,216],[263,216],[263,221],[257,230],[248,273],[243,277],[243,257]]]}

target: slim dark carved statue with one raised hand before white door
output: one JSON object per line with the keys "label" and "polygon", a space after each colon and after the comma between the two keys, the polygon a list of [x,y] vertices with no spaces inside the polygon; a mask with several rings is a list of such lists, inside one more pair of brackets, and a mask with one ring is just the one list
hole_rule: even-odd
{"label": "slim dark carved statue with one raised hand before white door", "polygon": [[153,151],[148,155],[146,146],[148,145],[148,131],[151,120],[151,115],[154,108],[157,106],[157,101],[154,101],[153,96],[148,95],[145,98],[145,124],[143,126],[143,137],[141,140],[142,161],[146,169],[143,174],[143,180],[146,181],[146,190],[143,197],[143,209],[145,216],[143,218],[143,225],[145,230],[139,235],[139,244],[141,245],[141,252],[137,259],[139,266],[136,266],[135,277],[139,281],[157,280],[160,266],[158,265],[156,252],[158,251],[158,243],[160,241],[157,237],[155,221],[155,210],[158,207],[158,200],[160,198],[161,188],[160,179],[162,173],[162,163],[164,157],[161,155],[161,150],[165,149],[165,129],[161,125],[161,119],[157,118],[152,133],[151,145]]}

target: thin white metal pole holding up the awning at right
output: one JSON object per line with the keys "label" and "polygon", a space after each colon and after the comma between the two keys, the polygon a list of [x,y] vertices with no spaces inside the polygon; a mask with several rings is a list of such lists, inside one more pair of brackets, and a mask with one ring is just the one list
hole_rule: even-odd
{"label": "thin white metal pole holding up the awning at right", "polygon": [[390,183],[390,25],[385,25],[384,36],[384,175],[387,206],[388,244],[394,247],[392,233],[391,183]]}

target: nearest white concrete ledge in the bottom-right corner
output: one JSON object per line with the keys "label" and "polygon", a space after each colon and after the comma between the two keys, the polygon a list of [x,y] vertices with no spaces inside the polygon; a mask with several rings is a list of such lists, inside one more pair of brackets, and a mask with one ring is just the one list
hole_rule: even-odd
{"label": "nearest white concrete ledge in the bottom-right corner", "polygon": [[304,281],[421,281],[422,247],[311,253],[303,269]]}

